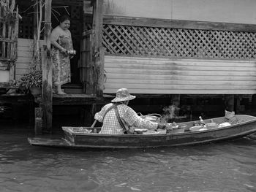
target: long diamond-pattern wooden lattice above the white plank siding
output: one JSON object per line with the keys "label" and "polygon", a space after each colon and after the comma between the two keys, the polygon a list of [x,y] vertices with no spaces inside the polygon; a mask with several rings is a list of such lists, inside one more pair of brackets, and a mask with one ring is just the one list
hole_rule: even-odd
{"label": "long diamond-pattern wooden lattice above the white plank siding", "polygon": [[256,34],[105,24],[106,54],[171,58],[256,58]]}

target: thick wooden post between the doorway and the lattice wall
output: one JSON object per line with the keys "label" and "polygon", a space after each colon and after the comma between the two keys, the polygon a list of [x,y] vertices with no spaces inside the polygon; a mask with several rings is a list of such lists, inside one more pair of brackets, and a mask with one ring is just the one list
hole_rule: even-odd
{"label": "thick wooden post between the doorway and the lattice wall", "polygon": [[94,67],[94,93],[96,96],[103,95],[104,83],[104,47],[102,47],[103,29],[103,1],[93,1],[93,21],[92,29],[95,38],[92,39],[92,64]]}

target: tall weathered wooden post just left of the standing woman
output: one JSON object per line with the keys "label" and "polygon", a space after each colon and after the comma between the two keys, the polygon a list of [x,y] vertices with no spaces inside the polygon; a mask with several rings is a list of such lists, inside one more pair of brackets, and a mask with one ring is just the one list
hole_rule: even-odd
{"label": "tall weathered wooden post just left of the standing woman", "polygon": [[53,66],[50,58],[51,0],[45,0],[45,44],[42,54],[42,111],[43,128],[51,132],[53,115]]}

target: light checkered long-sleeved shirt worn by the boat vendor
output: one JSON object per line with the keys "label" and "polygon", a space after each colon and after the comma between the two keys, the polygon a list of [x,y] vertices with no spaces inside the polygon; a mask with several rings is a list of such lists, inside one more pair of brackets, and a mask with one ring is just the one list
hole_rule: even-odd
{"label": "light checkered long-sleeved shirt worn by the boat vendor", "polygon": [[[102,129],[99,134],[124,134],[124,129],[121,127],[118,122],[118,118],[116,117],[115,109],[111,109],[103,120],[103,116],[113,104],[106,104],[102,107],[100,112],[97,112],[94,116],[96,120],[103,123]],[[133,126],[135,128],[148,128],[148,129],[156,129],[158,123],[151,122],[150,120],[145,120],[140,118],[137,113],[132,110],[131,107],[128,107],[126,104],[118,104],[117,105],[118,112],[121,120],[124,123],[124,126]]]}

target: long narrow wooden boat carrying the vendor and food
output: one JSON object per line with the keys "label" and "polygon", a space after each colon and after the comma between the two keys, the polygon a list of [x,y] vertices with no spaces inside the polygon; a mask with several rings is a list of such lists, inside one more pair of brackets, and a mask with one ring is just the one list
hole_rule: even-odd
{"label": "long narrow wooden boat carrying the vendor and food", "polygon": [[[65,137],[62,139],[29,138],[31,145],[49,147],[74,148],[147,148],[171,147],[180,145],[196,145],[207,142],[219,142],[227,139],[236,139],[256,132],[256,117],[250,115],[236,115],[237,122],[230,126],[189,131],[194,121],[183,122],[187,130],[179,133],[154,134],[98,134],[100,128],[90,127],[63,127]],[[206,123],[225,123],[225,117],[205,120]],[[179,124],[181,125],[181,123]],[[88,133],[91,130],[91,133]],[[85,133],[86,132],[86,133]]]}

